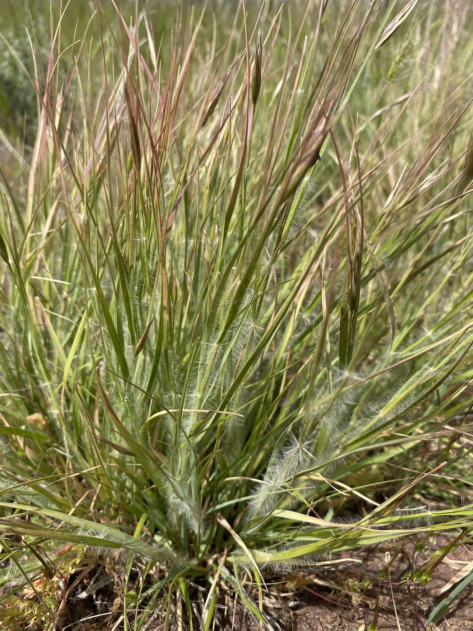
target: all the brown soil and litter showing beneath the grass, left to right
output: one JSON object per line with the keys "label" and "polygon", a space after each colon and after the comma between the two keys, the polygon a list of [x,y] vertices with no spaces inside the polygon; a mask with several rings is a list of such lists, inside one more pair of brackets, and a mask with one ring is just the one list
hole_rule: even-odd
{"label": "all the brown soil and litter showing beneath the grass, left to right", "polygon": [[[473,631],[473,582],[452,599],[450,608],[435,624],[426,622],[435,606],[472,572],[473,545],[467,543],[450,552],[428,584],[406,582],[406,577],[428,561],[434,550],[450,541],[446,536],[439,536],[420,551],[414,550],[414,542],[352,550],[346,554],[346,561],[339,559],[333,565],[286,575],[266,574],[267,589],[262,593],[255,587],[249,571],[245,575],[242,569],[240,580],[247,586],[247,596],[255,606],[259,606],[262,595],[269,631]],[[105,567],[98,559],[90,561],[67,598],[61,627],[68,631],[122,629],[121,600],[116,591],[119,574],[115,570],[110,572],[110,566]],[[204,608],[208,584],[204,580],[201,584],[198,584],[199,579],[196,581],[191,582],[188,589],[194,605],[193,627],[199,629],[199,612]],[[377,599],[378,618],[373,627]],[[170,631],[189,629],[182,602],[180,611],[182,618],[173,610],[168,620]],[[143,630],[163,630],[165,616],[166,611],[153,611]],[[42,630],[40,624],[21,628]],[[235,591],[224,591],[220,587],[212,631],[257,631],[259,628],[246,604],[240,598],[235,599]],[[20,627],[15,627],[15,631],[19,630]]]}

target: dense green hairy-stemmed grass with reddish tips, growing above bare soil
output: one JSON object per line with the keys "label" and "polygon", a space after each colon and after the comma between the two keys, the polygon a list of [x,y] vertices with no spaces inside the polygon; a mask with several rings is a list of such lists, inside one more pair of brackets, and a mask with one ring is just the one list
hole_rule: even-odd
{"label": "dense green hairy-stemmed grass with reddish tips, growing above bare soil", "polygon": [[469,540],[469,9],[68,10],[46,63],[3,33],[4,579],[67,541],[123,628],[271,626],[267,567]]}

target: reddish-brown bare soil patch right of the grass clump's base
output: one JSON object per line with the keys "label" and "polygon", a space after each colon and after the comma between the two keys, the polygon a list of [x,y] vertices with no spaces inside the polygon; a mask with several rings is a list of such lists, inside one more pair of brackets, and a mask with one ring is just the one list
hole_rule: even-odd
{"label": "reddish-brown bare soil patch right of the grass clump's base", "polygon": [[[418,569],[430,558],[433,549],[445,543],[448,539],[437,539],[435,546],[415,552],[413,545],[406,545],[399,551],[392,547],[387,550],[377,548],[368,551],[366,556],[360,556],[360,562],[337,565],[338,569],[291,575],[286,587],[281,590],[286,606],[274,615],[270,623],[275,631],[279,628],[288,631],[366,631],[373,623],[375,612],[371,608],[379,589],[377,631],[473,630],[473,582],[462,590],[436,624],[426,622],[436,604],[473,570],[473,546],[464,545],[450,553],[436,568],[433,580],[427,585],[412,585],[412,598],[406,582],[401,581],[406,573],[411,573],[412,567]],[[388,559],[396,552],[398,555],[390,565],[389,582],[379,573],[387,569]],[[274,611],[274,604],[271,606],[269,601],[267,611],[271,610]],[[243,620],[238,622],[234,625],[237,631],[256,628],[248,621],[246,624]]]}

